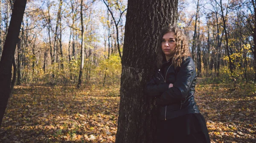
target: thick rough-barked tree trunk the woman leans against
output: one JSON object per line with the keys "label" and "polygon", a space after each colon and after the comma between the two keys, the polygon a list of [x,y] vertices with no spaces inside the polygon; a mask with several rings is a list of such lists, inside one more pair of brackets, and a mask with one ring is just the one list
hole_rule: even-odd
{"label": "thick rough-barked tree trunk the woman leans against", "polygon": [[116,143],[153,143],[157,112],[154,99],[143,94],[154,72],[157,38],[177,23],[177,0],[128,0],[122,56]]}

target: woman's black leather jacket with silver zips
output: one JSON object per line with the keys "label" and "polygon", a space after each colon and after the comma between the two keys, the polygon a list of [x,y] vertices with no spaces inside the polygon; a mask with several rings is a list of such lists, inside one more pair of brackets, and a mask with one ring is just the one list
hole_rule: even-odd
{"label": "woman's black leather jacket with silver zips", "polygon": [[[160,120],[168,120],[191,113],[200,113],[194,100],[196,70],[191,57],[180,67],[164,62],[146,84],[145,94],[156,97]],[[173,87],[168,88],[172,83]]]}

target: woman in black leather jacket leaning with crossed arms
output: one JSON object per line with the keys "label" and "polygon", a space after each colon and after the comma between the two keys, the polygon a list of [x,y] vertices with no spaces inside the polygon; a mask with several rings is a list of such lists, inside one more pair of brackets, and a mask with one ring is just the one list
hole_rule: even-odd
{"label": "woman in black leather jacket leaning with crossed arms", "polygon": [[157,48],[157,71],[145,87],[159,107],[159,143],[210,143],[204,117],[194,100],[196,70],[185,34],[164,28]]}

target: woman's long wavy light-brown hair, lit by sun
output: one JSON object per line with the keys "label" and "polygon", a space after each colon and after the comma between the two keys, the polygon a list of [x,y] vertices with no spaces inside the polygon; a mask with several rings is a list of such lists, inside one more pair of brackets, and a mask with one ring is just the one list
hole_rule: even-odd
{"label": "woman's long wavy light-brown hair, lit by sun", "polygon": [[174,56],[170,59],[172,64],[174,64],[175,68],[180,67],[180,64],[183,60],[185,60],[188,56],[191,55],[189,50],[189,45],[187,42],[187,37],[183,33],[183,31],[177,26],[168,26],[163,28],[160,35],[158,36],[158,46],[157,46],[157,68],[161,68],[164,61],[166,61],[166,56],[162,50],[162,38],[163,35],[173,32],[175,35],[175,51]]}

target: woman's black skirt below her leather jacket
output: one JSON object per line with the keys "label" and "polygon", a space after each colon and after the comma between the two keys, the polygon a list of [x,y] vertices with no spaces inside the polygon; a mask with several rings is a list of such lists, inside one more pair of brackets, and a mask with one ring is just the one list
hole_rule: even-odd
{"label": "woman's black skirt below her leather jacket", "polygon": [[157,122],[158,143],[210,143],[204,117],[187,114]]}

